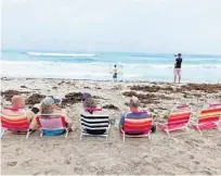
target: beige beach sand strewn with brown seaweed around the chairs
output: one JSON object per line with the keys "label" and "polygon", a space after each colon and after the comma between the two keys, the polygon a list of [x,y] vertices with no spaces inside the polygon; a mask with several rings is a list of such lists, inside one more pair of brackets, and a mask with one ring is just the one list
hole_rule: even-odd
{"label": "beige beach sand strewn with brown seaweed around the chairs", "polygon": [[[10,91],[16,90],[16,91]],[[108,141],[86,138],[80,141],[79,92],[89,92],[106,109],[112,125]],[[127,102],[138,96],[142,109],[152,112],[155,122],[165,122],[165,114],[176,102],[190,103],[191,120],[197,120],[205,102],[221,101],[221,86],[169,83],[110,83],[72,79],[2,78],[1,105],[10,105],[10,97],[21,93],[31,106],[31,95],[66,98],[64,108],[74,121],[68,138],[39,137],[35,131],[25,136],[6,133],[1,139],[1,174],[61,175],[61,174],[221,174],[221,131],[205,130],[203,135],[172,133],[169,138],[157,129],[152,140],[126,139],[118,131],[121,112],[128,112]],[[76,92],[76,93],[72,93]],[[69,93],[69,95],[68,95]],[[68,95],[68,96],[67,96]],[[70,101],[70,98],[72,101]]]}

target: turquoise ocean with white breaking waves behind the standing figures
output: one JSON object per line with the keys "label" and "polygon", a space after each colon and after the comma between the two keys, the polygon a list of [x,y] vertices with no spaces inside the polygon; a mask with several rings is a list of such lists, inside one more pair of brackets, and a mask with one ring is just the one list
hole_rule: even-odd
{"label": "turquoise ocean with white breaking waves behind the standing figures", "polygon": [[[221,83],[221,55],[183,54],[183,83]],[[135,52],[2,51],[2,77],[173,81],[174,54]]]}

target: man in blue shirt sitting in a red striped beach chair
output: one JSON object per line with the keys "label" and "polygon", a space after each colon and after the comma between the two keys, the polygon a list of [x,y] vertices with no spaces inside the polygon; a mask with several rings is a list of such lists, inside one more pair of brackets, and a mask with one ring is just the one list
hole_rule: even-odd
{"label": "man in blue shirt sitting in a red striped beach chair", "polygon": [[[146,112],[146,111],[141,111],[139,110],[139,105],[140,105],[140,101],[136,97],[132,97],[130,99],[130,113],[127,114],[122,114],[120,122],[119,122],[119,129],[123,129],[123,125],[125,125],[125,118],[127,117],[131,117],[131,118],[146,118],[146,117],[151,117],[151,115]],[[154,133],[156,130],[156,125],[152,125],[152,133]]]}

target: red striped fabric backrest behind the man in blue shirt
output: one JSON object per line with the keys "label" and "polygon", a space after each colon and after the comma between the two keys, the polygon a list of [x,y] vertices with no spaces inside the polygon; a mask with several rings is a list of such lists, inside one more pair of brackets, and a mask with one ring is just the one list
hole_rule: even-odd
{"label": "red striped fabric backrest behind the man in blue shirt", "polygon": [[127,134],[146,135],[152,128],[152,118],[125,118],[123,131]]}

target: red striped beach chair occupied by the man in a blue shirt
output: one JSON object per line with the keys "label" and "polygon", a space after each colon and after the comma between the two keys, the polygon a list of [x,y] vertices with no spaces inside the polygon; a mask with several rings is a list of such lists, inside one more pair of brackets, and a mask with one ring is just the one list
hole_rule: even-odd
{"label": "red striped beach chair occupied by the man in a blue shirt", "polygon": [[[145,113],[146,117],[139,117],[141,113]],[[151,140],[152,122],[152,117],[150,117],[147,112],[144,111],[126,114],[125,124],[121,129],[122,140],[125,141],[126,138],[142,137],[147,137]]]}

